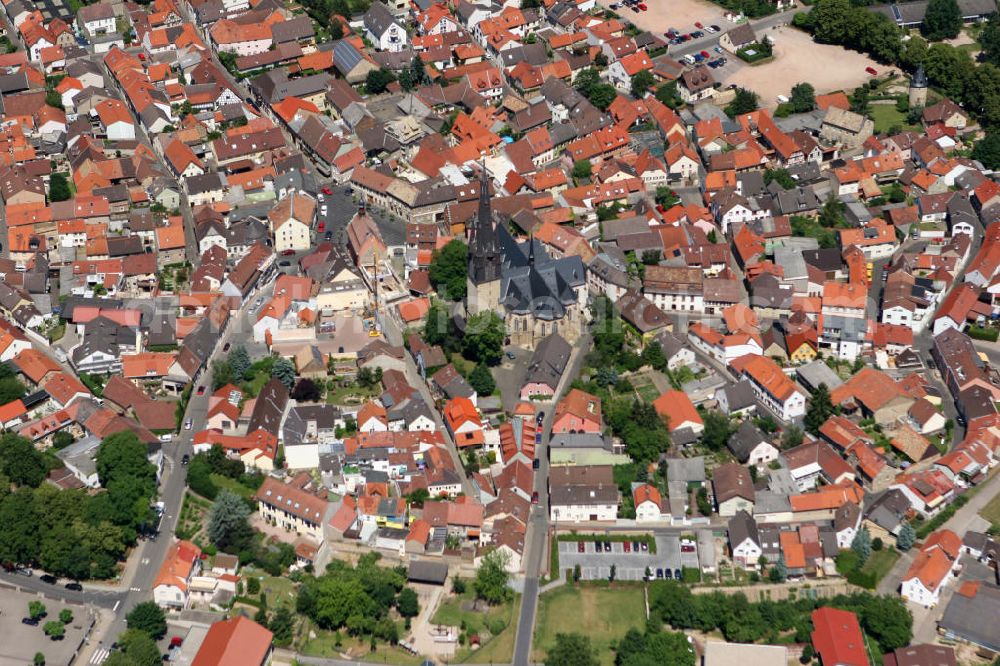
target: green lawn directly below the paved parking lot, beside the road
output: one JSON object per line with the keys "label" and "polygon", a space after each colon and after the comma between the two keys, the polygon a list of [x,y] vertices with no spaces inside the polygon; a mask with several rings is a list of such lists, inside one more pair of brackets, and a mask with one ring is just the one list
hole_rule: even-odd
{"label": "green lawn directly below the paved parking lot, beside the road", "polygon": [[642,588],[564,586],[539,598],[535,621],[535,661],[542,661],[554,644],[556,634],[580,633],[590,638],[601,664],[615,662],[611,643],[629,629],[646,625]]}

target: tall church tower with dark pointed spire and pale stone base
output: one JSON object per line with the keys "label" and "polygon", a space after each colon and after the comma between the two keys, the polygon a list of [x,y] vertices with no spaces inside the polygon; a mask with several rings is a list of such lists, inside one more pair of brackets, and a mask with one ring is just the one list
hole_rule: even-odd
{"label": "tall church tower with dark pointed spire and pale stone base", "polygon": [[483,165],[479,177],[479,212],[469,226],[469,275],[466,278],[467,316],[494,310],[500,316],[500,241],[493,226],[490,187]]}

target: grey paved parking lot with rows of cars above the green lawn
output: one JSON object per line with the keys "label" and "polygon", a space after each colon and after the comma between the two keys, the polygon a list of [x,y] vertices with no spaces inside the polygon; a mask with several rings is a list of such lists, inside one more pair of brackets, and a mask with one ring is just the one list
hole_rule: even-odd
{"label": "grey paved parking lot with rows of cars above the green lawn", "polygon": [[[615,567],[617,580],[642,580],[649,568],[651,578],[675,578],[684,567],[699,568],[698,546],[692,540],[681,549],[679,535],[655,535],[656,553],[642,550],[636,551],[632,545],[626,552],[625,544],[619,541],[605,542],[601,535],[594,539],[602,541],[598,551],[594,541],[560,541],[559,568],[574,569],[580,565],[580,578],[583,580],[607,579],[611,575],[611,566]],[[606,550],[610,543],[611,550]],[[580,552],[580,545],[583,552]],[[669,575],[668,575],[669,570]]]}

